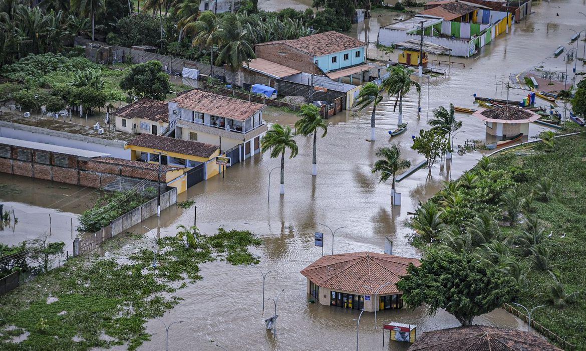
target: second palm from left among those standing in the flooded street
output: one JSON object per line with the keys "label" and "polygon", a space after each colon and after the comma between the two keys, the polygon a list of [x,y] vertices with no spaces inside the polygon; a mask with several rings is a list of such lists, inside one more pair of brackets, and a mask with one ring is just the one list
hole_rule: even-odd
{"label": "second palm from left among those standing in the flooded street", "polygon": [[271,158],[281,156],[281,194],[285,194],[285,151],[289,149],[291,154],[289,158],[297,156],[297,143],[293,139],[291,127],[281,126],[281,124],[273,124],[271,129],[264,134],[260,141],[261,151],[264,153],[271,150]]}

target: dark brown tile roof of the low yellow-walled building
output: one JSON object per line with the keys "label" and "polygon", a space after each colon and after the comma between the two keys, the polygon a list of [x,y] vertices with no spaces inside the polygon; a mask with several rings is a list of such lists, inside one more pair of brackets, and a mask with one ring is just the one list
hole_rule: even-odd
{"label": "dark brown tile roof of the low yellow-walled building", "polygon": [[128,145],[203,158],[209,158],[218,149],[216,145],[153,134],[139,134]]}

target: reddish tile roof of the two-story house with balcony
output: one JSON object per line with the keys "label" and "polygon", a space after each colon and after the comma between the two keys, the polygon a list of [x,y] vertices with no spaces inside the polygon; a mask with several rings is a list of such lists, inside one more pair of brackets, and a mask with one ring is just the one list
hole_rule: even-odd
{"label": "reddish tile roof of the two-story house with balcony", "polygon": [[176,102],[179,107],[184,109],[239,121],[247,120],[266,106],[199,89],[190,90],[171,101]]}

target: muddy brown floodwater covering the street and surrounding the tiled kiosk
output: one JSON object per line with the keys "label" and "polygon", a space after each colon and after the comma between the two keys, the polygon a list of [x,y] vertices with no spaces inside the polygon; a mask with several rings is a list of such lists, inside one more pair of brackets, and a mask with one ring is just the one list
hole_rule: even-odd
{"label": "muddy brown floodwater covering the street and surrounding the tiled kiosk", "polygon": [[[308,5],[308,2],[298,4]],[[495,76],[505,82],[512,77],[514,82],[517,73],[533,66],[563,70],[562,58],[554,59],[553,52],[558,45],[567,45],[572,33],[568,29],[584,29],[584,18],[577,14],[584,9],[584,1],[533,2],[534,14],[522,23],[515,23],[512,33],[497,38],[477,58],[456,59],[466,63],[464,69],[453,67],[447,77],[420,79],[421,94],[411,92],[404,101],[408,130],[392,140],[400,147],[401,156],[413,163],[423,160],[410,149],[411,135],[428,127],[426,120],[435,107],[449,103],[475,107],[473,93],[506,97],[506,89],[495,87]],[[370,41],[375,41],[378,26],[390,23],[396,15],[374,18],[369,25],[355,25],[353,35],[362,39],[366,27],[370,31]],[[370,52],[374,55],[373,45]],[[396,56],[394,53],[390,59]],[[583,70],[578,66],[578,72]],[[511,99],[518,100],[523,94],[526,92],[510,90]],[[546,102],[541,103],[546,105]],[[421,106],[420,114],[418,106]],[[295,121],[294,116],[275,110],[268,110],[265,118],[280,123]],[[464,133],[455,136],[455,144],[463,144],[466,139],[485,140],[482,122],[464,114],[458,114],[458,119],[464,124],[461,129]],[[335,252],[381,252],[384,237],[389,237],[394,243],[394,254],[419,257],[417,250],[404,238],[410,232],[405,226],[409,218],[407,212],[436,193],[442,181],[459,177],[481,156],[478,152],[455,155],[451,163],[438,163],[430,179],[427,179],[426,170],[418,171],[398,184],[403,204],[392,208],[390,184],[379,184],[378,177],[370,170],[376,161],[377,147],[391,142],[387,131],[397,123],[393,102],[385,99],[377,108],[377,141],[374,143],[365,141],[370,135],[370,110],[357,116],[339,114],[329,122],[328,135],[318,140],[317,177],[311,176],[311,139],[296,138],[299,155],[285,161],[285,195],[278,194],[279,176],[275,171],[271,177],[271,198],[267,201],[268,172],[264,166],[277,167],[279,161],[257,155],[229,168],[226,178],[214,177],[197,184],[180,198],[196,201],[197,226],[202,232],[212,233],[224,225],[254,231],[264,239],[263,247],[257,250],[261,257],[259,267],[263,271],[277,271],[267,277],[266,296],[275,296],[285,289],[278,303],[278,338],[275,340],[264,328],[263,319],[272,315],[274,306],[267,301],[263,315],[260,273],[251,267],[214,262],[203,265],[203,280],[180,290],[178,293],[184,301],[163,316],[168,323],[185,321],[171,327],[170,350],[219,350],[216,343],[227,350],[354,349],[357,312],[307,302],[306,279],[299,271],[321,255],[321,249],[314,247],[314,232],[325,233],[326,254],[332,249],[329,231],[318,223],[348,227],[336,233]],[[532,125],[530,134],[534,136],[541,130],[544,129]],[[177,213],[176,218],[166,219],[170,223],[163,225],[162,231],[175,232],[179,224],[193,225],[193,209]],[[156,225],[156,221],[151,225]],[[385,342],[382,346],[380,322],[383,321],[415,324],[419,335],[425,330],[459,325],[444,311],[431,317],[426,315],[424,308],[383,311],[378,319],[379,329],[375,331],[373,313],[362,316],[361,350],[407,349],[407,344],[397,342]],[[502,309],[480,316],[475,322],[523,328],[519,320]],[[147,329],[152,338],[141,349],[161,350],[165,329],[158,320],[149,321]]]}

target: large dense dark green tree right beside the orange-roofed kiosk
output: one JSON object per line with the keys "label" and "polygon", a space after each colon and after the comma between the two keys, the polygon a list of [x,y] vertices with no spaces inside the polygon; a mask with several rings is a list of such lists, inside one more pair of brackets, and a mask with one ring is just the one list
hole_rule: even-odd
{"label": "large dense dark green tree right beside the orange-roofed kiosk", "polygon": [[431,315],[445,309],[462,325],[513,301],[519,290],[515,279],[471,254],[432,251],[421,266],[411,264],[407,272],[397,284],[407,306],[425,305]]}

